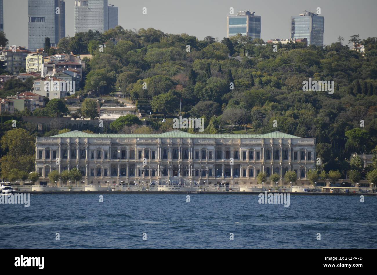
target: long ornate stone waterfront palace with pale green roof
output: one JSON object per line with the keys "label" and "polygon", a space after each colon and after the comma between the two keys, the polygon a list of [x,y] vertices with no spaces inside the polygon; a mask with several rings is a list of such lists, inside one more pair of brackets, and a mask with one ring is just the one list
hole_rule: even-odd
{"label": "long ornate stone waterfront palace with pale green roof", "polygon": [[[306,181],[314,169],[315,138],[268,134],[88,134],[70,131],[37,137],[36,172],[77,168],[86,184],[247,184],[257,175],[287,171]],[[267,180],[268,181],[268,180]]]}

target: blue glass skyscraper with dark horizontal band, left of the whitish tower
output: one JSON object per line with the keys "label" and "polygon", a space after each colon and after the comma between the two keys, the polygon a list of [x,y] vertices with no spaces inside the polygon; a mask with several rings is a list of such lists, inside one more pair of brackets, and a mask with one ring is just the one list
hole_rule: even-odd
{"label": "blue glass skyscraper with dark horizontal band, left of the whitish tower", "polygon": [[65,37],[65,3],[63,0],[28,0],[29,50],[44,47],[50,38],[52,47]]}

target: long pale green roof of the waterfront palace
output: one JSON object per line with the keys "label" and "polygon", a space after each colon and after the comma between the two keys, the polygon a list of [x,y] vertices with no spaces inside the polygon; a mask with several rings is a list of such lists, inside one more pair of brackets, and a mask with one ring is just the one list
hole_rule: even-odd
{"label": "long pale green roof of the waterfront palace", "polygon": [[298,139],[301,137],[293,136],[291,134],[274,131],[268,134],[190,134],[184,131],[173,130],[162,134],[88,134],[81,131],[70,131],[63,134],[57,134],[52,137],[183,137],[183,138],[292,138]]}

